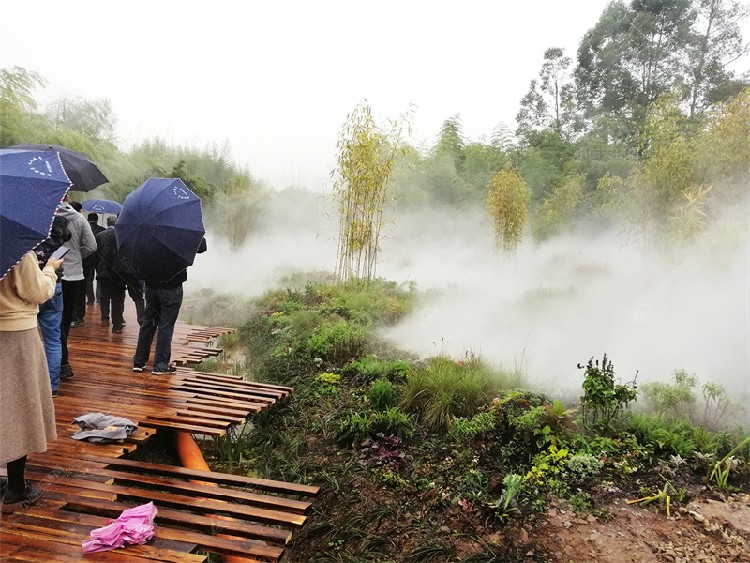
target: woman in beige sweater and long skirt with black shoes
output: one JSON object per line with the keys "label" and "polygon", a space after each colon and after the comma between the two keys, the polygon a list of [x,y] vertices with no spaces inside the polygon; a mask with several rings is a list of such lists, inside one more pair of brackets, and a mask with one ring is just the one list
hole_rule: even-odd
{"label": "woman in beige sweater and long skirt with black shoes", "polygon": [[36,254],[28,252],[0,280],[0,464],[6,464],[8,472],[0,505],[4,514],[31,506],[42,496],[42,490],[25,479],[26,455],[46,451],[47,442],[57,437],[36,316],[39,304],[55,291],[55,270],[62,262],[50,259],[40,270]]}

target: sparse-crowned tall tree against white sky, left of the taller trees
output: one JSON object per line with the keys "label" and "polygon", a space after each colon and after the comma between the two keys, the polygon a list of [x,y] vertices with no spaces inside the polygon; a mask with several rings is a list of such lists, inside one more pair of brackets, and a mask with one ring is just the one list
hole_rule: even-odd
{"label": "sparse-crowned tall tree against white sky, left of the taller trees", "polygon": [[553,47],[544,52],[539,78],[531,81],[521,100],[516,135],[528,140],[531,131],[552,129],[558,135],[572,137],[576,111],[572,62],[563,49]]}

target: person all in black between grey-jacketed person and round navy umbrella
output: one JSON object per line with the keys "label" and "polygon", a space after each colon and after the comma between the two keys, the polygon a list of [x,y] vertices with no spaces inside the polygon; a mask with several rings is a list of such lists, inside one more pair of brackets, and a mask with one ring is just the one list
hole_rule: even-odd
{"label": "person all in black between grey-jacketed person and round navy umbrella", "polygon": [[112,332],[122,332],[125,324],[125,280],[117,272],[117,238],[114,217],[107,221],[109,228],[96,235],[96,279],[99,287],[99,307],[102,326],[109,326],[112,314]]}

